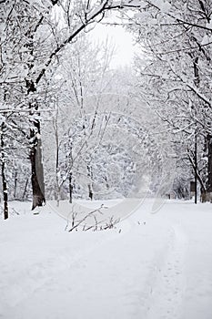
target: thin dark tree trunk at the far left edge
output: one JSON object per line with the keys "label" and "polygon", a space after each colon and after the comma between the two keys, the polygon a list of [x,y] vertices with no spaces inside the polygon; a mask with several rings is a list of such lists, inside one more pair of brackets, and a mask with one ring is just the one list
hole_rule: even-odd
{"label": "thin dark tree trunk at the far left edge", "polygon": [[2,188],[3,188],[3,201],[4,201],[4,219],[7,220],[8,216],[9,216],[9,210],[8,210],[7,181],[6,181],[6,177],[5,177],[5,154],[4,154],[5,141],[4,141],[4,130],[5,130],[5,124],[2,123],[2,125],[1,125]]}

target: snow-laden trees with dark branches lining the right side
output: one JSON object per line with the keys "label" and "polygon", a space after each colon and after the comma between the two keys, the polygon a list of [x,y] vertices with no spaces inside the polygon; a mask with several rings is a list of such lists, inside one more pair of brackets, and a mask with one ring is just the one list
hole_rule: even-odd
{"label": "snow-laden trees with dark branches lining the right side", "polygon": [[[187,160],[196,172],[202,199],[211,201],[211,2],[144,4],[132,26],[148,53],[148,60],[138,67],[143,98],[174,135],[184,133]],[[197,161],[205,169],[202,164],[197,167]]]}

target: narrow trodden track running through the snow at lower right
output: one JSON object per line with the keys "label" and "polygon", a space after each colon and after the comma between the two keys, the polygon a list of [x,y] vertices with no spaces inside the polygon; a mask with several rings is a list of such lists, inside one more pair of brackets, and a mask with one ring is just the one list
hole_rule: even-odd
{"label": "narrow trodden track running through the snow at lower right", "polygon": [[187,238],[178,225],[172,225],[167,257],[156,269],[147,303],[146,319],[182,318],[182,304],[186,290],[184,270]]}

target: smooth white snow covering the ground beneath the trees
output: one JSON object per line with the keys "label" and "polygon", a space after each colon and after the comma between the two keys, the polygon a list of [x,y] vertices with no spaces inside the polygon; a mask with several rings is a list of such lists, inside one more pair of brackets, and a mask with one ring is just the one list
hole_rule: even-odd
{"label": "smooth white snow covering the ground beneath the trees", "polygon": [[116,229],[67,232],[51,204],[34,215],[11,203],[20,214],[0,221],[0,318],[211,319],[212,205],[167,201],[152,214],[152,204]]}

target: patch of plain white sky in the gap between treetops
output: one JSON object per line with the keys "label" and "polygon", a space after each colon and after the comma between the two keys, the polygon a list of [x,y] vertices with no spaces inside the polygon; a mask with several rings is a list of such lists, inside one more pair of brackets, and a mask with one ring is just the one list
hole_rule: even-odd
{"label": "patch of plain white sky in the gap between treetops", "polygon": [[115,46],[115,55],[111,67],[125,67],[133,62],[134,46],[132,36],[122,26],[106,26],[97,24],[90,32],[95,42],[106,41],[108,37],[112,46]]}

